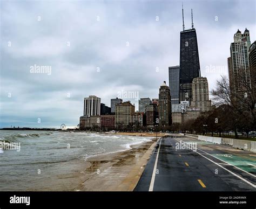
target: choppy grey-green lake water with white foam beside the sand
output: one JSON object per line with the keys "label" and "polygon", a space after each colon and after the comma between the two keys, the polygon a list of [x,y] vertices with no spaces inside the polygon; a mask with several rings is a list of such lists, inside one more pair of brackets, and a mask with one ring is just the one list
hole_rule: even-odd
{"label": "choppy grey-green lake water with white foam beside the sand", "polygon": [[[21,150],[0,149],[1,190],[39,189],[47,179],[72,171],[73,162],[91,156],[131,149],[131,145],[150,141],[152,137],[64,131],[3,131],[1,141],[21,142]],[[79,164],[80,165],[80,164]],[[44,175],[36,175],[41,169]],[[42,184],[38,181],[42,178]],[[46,178],[46,179],[44,179]]]}

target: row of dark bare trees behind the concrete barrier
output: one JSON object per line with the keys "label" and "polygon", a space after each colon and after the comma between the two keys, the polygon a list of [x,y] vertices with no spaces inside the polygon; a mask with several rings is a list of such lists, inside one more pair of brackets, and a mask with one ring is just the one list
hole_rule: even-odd
{"label": "row of dark bare trees behind the concrete barrier", "polygon": [[[254,75],[251,75],[251,80],[254,81]],[[237,90],[230,85],[226,76],[221,76],[216,88],[211,91],[216,108],[176,128],[197,134],[205,134],[207,131],[213,135],[217,132],[219,136],[226,131],[234,131],[236,138],[238,132],[246,133],[248,137],[250,131],[256,130],[256,91],[254,82],[247,81],[247,78],[241,76]]]}

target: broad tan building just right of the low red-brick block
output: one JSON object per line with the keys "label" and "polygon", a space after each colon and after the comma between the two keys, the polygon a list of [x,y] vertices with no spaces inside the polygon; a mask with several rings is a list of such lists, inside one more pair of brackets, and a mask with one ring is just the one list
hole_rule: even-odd
{"label": "broad tan building just right of the low red-brick block", "polygon": [[116,104],[115,126],[117,128],[126,128],[132,123],[132,115],[135,114],[135,106],[129,101]]}

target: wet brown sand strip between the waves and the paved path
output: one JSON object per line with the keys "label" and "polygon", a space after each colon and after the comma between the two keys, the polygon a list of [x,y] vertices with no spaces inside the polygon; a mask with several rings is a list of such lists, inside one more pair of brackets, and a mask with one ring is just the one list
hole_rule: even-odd
{"label": "wet brown sand strip between the waves and the paved path", "polygon": [[73,191],[133,191],[155,145],[152,138],[130,150],[88,158],[90,164],[79,175],[82,183]]}

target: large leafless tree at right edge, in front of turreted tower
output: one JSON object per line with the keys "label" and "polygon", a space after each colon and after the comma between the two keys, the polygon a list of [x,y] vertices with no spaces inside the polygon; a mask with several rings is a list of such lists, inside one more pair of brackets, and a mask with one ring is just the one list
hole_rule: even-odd
{"label": "large leafless tree at right edge, in front of turreted tower", "polygon": [[[237,129],[247,131],[255,128],[255,89],[252,88],[250,80],[244,73],[240,75],[239,90],[230,85],[226,76],[222,75],[217,81],[216,89],[211,91],[214,104],[219,107],[225,106],[225,111],[229,112],[232,129],[237,135]],[[246,123],[242,123],[246,119]]]}

